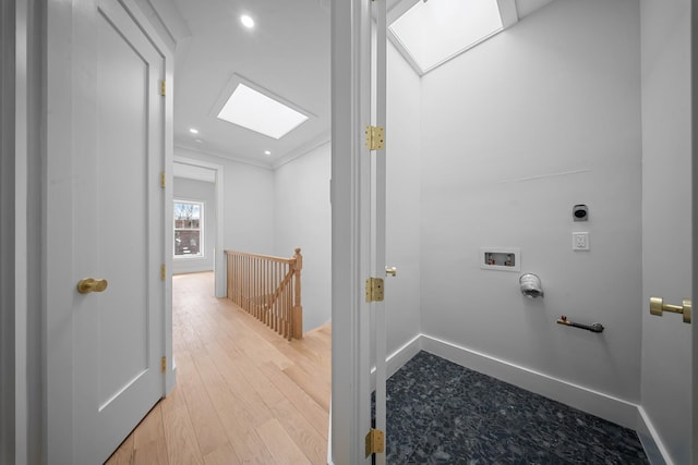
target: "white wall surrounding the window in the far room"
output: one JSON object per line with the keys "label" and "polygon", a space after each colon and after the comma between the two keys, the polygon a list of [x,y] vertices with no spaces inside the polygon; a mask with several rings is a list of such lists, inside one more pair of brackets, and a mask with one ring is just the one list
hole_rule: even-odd
{"label": "white wall surrounding the window in the far room", "polygon": [[174,199],[204,204],[204,256],[179,257],[172,260],[172,272],[191,273],[214,269],[216,245],[216,185],[205,181],[174,178]]}

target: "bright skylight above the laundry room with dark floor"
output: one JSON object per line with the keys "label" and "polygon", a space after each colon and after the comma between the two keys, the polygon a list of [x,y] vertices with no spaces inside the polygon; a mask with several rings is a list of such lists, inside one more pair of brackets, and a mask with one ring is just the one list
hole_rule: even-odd
{"label": "bright skylight above the laundry room with dark floor", "polygon": [[388,26],[420,74],[503,28],[497,0],[419,0]]}

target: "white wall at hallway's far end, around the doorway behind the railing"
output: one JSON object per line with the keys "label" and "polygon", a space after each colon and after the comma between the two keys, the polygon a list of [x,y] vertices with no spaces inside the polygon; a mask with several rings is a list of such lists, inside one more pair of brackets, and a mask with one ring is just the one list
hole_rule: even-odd
{"label": "white wall at hallway's far end, around the doorway behind the railing", "polygon": [[174,156],[224,167],[224,248],[272,254],[274,243],[274,174],[221,157],[174,148]]}

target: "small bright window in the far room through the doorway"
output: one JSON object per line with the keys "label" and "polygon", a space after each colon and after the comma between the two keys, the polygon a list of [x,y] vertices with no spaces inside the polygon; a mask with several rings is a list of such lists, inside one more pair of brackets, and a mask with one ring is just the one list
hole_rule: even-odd
{"label": "small bright window in the far room through the doorway", "polygon": [[204,204],[174,200],[174,258],[204,256]]}

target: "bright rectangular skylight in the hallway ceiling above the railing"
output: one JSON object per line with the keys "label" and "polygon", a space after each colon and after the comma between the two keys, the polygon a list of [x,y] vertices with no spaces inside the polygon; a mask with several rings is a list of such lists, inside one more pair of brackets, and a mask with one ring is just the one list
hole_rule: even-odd
{"label": "bright rectangular skylight in the hallway ceiling above the railing", "polygon": [[308,120],[305,114],[242,83],[237,85],[218,118],[275,139]]}

